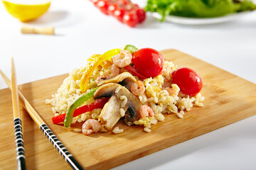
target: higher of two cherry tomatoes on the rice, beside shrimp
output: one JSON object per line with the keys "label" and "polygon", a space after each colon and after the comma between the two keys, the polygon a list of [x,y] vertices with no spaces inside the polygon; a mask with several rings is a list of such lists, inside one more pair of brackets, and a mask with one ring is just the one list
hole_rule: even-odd
{"label": "higher of two cherry tomatoes on the rice, beside shrimp", "polygon": [[142,76],[156,77],[163,71],[164,57],[157,50],[142,48],[133,53],[132,63]]}

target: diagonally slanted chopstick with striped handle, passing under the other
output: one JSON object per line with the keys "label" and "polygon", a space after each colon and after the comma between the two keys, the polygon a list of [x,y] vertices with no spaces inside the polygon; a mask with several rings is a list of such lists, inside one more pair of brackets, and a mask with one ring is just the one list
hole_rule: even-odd
{"label": "diagonally slanted chopstick with striped handle, passing under the other", "polygon": [[[0,74],[4,78],[4,81],[6,82],[7,86],[9,86],[9,88],[11,89],[10,80],[6,77],[6,75],[3,72],[1,72],[1,70],[0,70]],[[43,122],[41,117],[38,115],[38,113],[36,113],[36,111],[33,109],[31,104],[26,100],[26,98],[23,96],[23,94],[21,94],[21,91],[19,91],[19,90],[18,90],[18,95],[21,98],[23,108],[26,109],[28,114],[33,119],[33,121],[36,123],[36,125],[38,125],[38,128],[40,128],[42,130],[43,135],[46,135],[49,142],[52,143],[53,147],[55,147],[55,149],[57,149],[57,151],[60,153],[60,155],[63,156],[63,158],[65,159],[65,162],[68,162],[68,164],[70,164],[70,166],[72,166],[73,169],[82,169],[82,166],[80,166],[80,164],[78,164],[78,162],[75,160],[73,155],[70,154],[70,152],[68,152],[68,149],[66,149],[64,147],[64,145],[53,134],[53,132],[50,130],[50,128],[48,128],[46,123]]]}

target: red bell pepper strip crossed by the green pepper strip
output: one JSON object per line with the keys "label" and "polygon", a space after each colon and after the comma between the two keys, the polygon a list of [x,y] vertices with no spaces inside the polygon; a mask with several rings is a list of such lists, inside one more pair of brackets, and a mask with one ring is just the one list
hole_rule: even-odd
{"label": "red bell pepper strip crossed by the green pepper strip", "polygon": [[[92,111],[95,108],[103,108],[105,106],[105,103],[107,103],[107,101],[109,99],[110,98],[99,98],[99,99],[96,99],[94,102],[92,102],[90,104],[87,104],[85,106],[82,106],[80,108],[75,109],[75,112],[73,114],[73,118],[78,116],[78,115],[81,115],[82,113],[85,113],[85,112],[88,112],[88,111]],[[53,123],[54,124],[58,124],[58,123],[64,122],[65,115],[66,115],[66,113],[54,116],[52,118]]]}

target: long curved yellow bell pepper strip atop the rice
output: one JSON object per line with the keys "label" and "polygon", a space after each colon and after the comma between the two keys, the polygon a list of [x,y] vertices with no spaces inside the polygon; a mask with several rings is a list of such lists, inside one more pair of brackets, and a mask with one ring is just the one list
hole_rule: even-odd
{"label": "long curved yellow bell pepper strip atop the rice", "polygon": [[82,93],[87,91],[87,82],[89,81],[90,77],[92,77],[92,73],[94,70],[105,60],[111,59],[114,55],[118,55],[120,49],[113,49],[105,52],[103,55],[93,55],[90,59],[92,62],[87,66],[85,69],[84,74],[82,75],[82,79],[80,80],[80,90]]}

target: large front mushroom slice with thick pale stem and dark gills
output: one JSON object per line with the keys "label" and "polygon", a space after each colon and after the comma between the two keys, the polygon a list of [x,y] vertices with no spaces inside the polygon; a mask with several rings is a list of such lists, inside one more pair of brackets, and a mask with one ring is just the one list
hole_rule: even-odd
{"label": "large front mushroom slice with thick pale stem and dark gills", "polygon": [[105,104],[99,117],[99,119],[105,123],[108,130],[111,130],[111,128],[121,118],[120,108],[123,102],[120,99],[121,96],[127,97],[126,106],[123,108],[126,112],[125,121],[134,122],[135,120],[139,120],[139,107],[142,106],[142,103],[128,89],[126,89],[124,86],[121,86],[120,84],[109,83],[100,86],[100,88],[97,89],[94,94],[95,99],[110,96],[110,99],[112,100]]}

